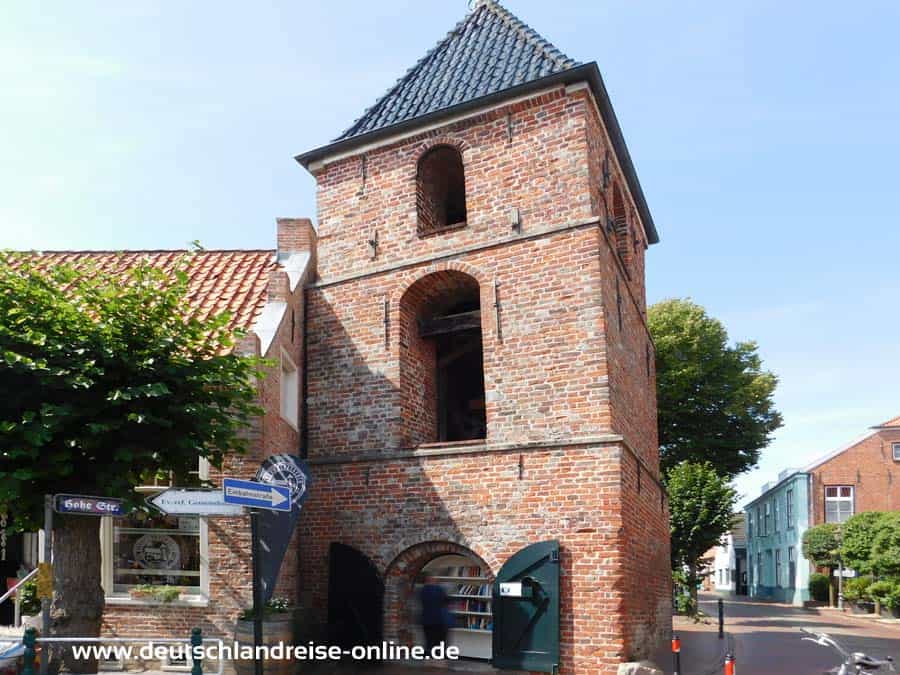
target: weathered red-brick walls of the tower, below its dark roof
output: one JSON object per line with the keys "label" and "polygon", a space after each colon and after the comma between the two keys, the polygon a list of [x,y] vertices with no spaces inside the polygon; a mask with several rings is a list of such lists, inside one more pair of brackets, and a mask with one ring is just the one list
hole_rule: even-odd
{"label": "weathered red-brick walls of the tower, below its dark roof", "polygon": [[[440,144],[462,154],[468,223],[421,237],[417,162]],[[603,187],[609,147],[587,92],[561,88],[314,169],[317,487],[301,547],[310,625],[325,620],[332,542],[371,558],[387,585],[387,635],[408,639],[402,598],[438,549],[463,547],[496,574],[524,546],[557,538],[562,672],[612,673],[668,637],[645,243],[614,157]],[[613,189],[626,227],[608,233]],[[463,278],[480,296],[487,438],[423,448],[433,355],[414,317],[430,286]]]}

